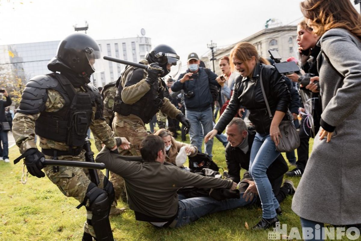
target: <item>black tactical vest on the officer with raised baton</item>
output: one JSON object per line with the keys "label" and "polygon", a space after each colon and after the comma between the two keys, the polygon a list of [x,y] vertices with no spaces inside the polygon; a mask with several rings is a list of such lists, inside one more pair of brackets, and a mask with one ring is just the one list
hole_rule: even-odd
{"label": "black tactical vest on the officer with raised baton", "polygon": [[[147,124],[151,121],[152,117],[160,110],[163,104],[164,98],[164,86],[163,81],[158,81],[151,86],[151,89],[140,98],[134,104],[125,104],[122,101],[122,90],[125,85],[126,77],[129,72],[133,71],[134,67],[128,67],[117,86],[117,95],[114,98],[113,110],[120,115],[129,116],[130,114],[138,116],[144,124]],[[146,76],[143,76],[145,78]]]}

